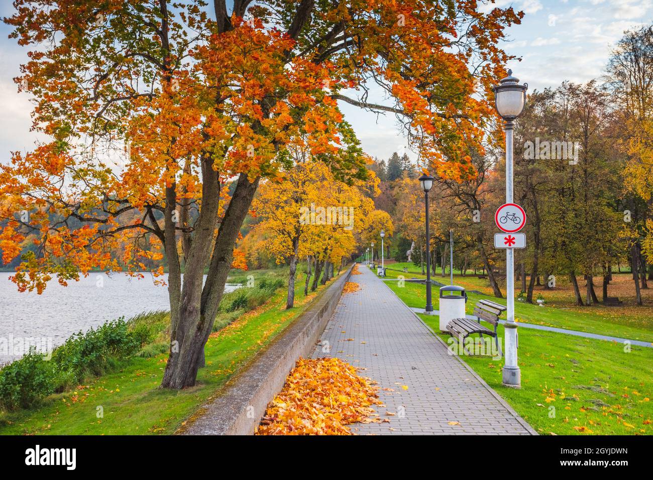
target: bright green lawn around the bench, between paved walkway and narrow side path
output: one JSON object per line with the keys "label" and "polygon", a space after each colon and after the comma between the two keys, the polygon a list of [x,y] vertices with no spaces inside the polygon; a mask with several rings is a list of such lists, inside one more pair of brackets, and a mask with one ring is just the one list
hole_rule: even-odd
{"label": "bright green lawn around the bench, between paved walkway and narrow side path", "polygon": [[[387,284],[407,305],[423,306],[424,285]],[[547,311],[533,308],[534,320]],[[437,316],[419,316],[438,330]],[[503,327],[498,331],[503,337]],[[448,335],[441,338],[452,342]],[[616,342],[522,328],[521,389],[503,387],[503,359],[463,359],[540,434],[653,434],[653,349],[625,351]]]}

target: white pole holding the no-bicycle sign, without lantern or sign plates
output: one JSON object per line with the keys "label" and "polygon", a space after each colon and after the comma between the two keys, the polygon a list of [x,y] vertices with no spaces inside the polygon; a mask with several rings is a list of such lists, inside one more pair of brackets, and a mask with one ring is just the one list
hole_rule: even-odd
{"label": "white pole holding the no-bicycle sign, without lantern or sign plates", "polygon": [[[505,122],[505,202],[513,203],[513,128],[515,122]],[[507,321],[505,323],[505,362],[503,385],[519,388],[521,372],[517,364],[517,324],[515,323],[515,249],[505,249],[505,295]]]}

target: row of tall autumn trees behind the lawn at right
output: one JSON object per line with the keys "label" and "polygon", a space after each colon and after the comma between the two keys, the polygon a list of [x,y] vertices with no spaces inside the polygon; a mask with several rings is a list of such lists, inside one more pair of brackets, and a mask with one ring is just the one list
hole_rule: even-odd
{"label": "row of tall autumn trees behind the lawn at right", "polygon": [[[536,285],[549,289],[566,278],[579,306],[605,302],[613,272],[626,267],[642,304],[653,280],[652,99],[650,26],[624,35],[603,78],[528,95],[514,139],[515,202],[528,218],[527,248],[516,251],[515,268],[526,301]],[[503,155],[502,148],[470,151],[475,176],[437,178],[430,193],[432,266],[447,264],[453,229],[455,267],[481,270],[496,296],[505,278],[503,251],[493,246],[494,212],[505,201]],[[385,188],[403,238],[395,253],[405,257],[414,241],[419,262],[426,248],[419,182],[404,174]]]}

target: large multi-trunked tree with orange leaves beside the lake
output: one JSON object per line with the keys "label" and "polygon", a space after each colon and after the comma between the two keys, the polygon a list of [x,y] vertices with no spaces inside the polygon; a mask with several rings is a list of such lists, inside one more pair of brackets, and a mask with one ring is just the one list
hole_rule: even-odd
{"label": "large multi-trunked tree with orange leaves beside the lake", "polygon": [[[3,261],[33,235],[38,248],[14,281],[40,291],[53,276],[119,270],[109,252],[125,239],[133,270],[165,255],[161,386],[175,389],[195,384],[240,226],[261,180],[288,166],[289,144],[308,136],[320,161],[336,159],[337,178],[364,175],[351,157],[329,156],[347,130],[343,101],[396,114],[434,171],[473,174],[467,144],[482,148],[490,85],[509,59],[496,44],[521,16],[475,0],[14,5],[5,22],[31,48],[17,82],[50,140],[0,172]],[[372,103],[370,82],[392,104]],[[119,161],[116,149],[127,153]],[[123,222],[127,212],[138,221]]]}

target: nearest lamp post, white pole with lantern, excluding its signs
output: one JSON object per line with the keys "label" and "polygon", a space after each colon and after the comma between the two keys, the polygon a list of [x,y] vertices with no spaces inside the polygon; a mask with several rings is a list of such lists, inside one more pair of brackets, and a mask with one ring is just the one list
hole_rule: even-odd
{"label": "nearest lamp post, white pole with lantern, excluding its signs", "polygon": [[[496,110],[505,121],[505,202],[513,203],[513,128],[526,104],[528,84],[520,85],[519,79],[508,71],[494,88]],[[505,249],[505,289],[507,321],[505,323],[505,364],[503,385],[519,388],[521,372],[517,364],[517,323],[515,323],[515,249]]]}

